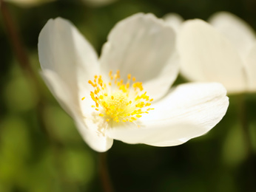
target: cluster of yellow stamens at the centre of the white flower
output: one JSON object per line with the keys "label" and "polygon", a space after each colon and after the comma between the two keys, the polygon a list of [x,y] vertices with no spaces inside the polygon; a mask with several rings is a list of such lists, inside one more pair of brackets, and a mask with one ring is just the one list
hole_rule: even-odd
{"label": "cluster of yellow stamens at the centre of the white flower", "polygon": [[[90,92],[90,97],[95,102],[95,109],[99,116],[104,117],[107,122],[134,122],[142,114],[149,113],[149,108],[153,99],[150,99],[143,92],[141,82],[135,82],[135,77],[127,75],[127,83],[120,78],[119,70],[115,75],[109,73],[110,82],[104,83],[101,75],[95,75],[94,80],[89,80],[94,92]],[[130,83],[132,81],[132,86]],[[84,97],[82,98],[84,100]]]}

